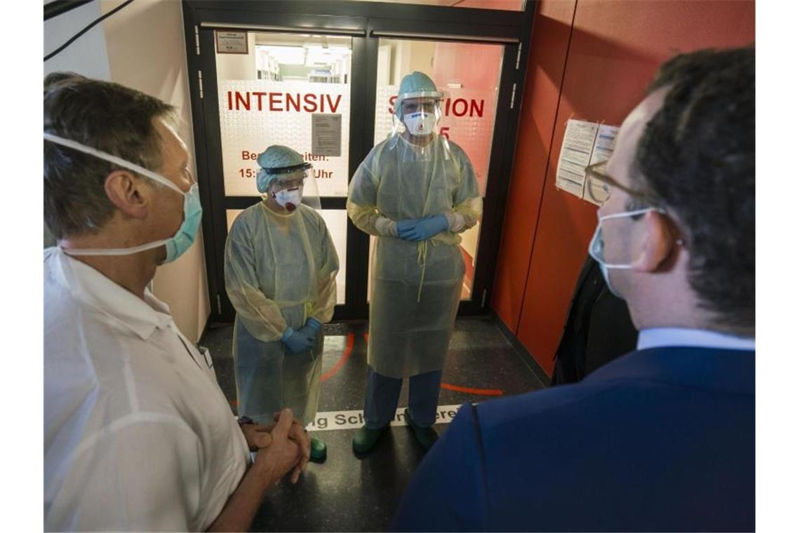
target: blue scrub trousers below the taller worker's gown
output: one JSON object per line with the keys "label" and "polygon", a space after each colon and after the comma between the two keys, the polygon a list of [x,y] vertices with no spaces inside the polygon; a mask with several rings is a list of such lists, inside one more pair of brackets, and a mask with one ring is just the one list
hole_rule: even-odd
{"label": "blue scrub trousers below the taller worker's gown", "polygon": [[[383,428],[394,419],[394,413],[397,412],[402,378],[381,376],[372,367],[368,368],[364,420],[367,428]],[[414,424],[422,428],[434,425],[441,383],[441,370],[409,378],[408,412]]]}

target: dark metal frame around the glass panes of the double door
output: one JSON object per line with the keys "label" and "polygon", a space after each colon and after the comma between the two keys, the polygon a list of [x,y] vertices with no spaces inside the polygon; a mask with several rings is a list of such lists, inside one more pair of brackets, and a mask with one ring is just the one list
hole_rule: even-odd
{"label": "dark metal frame around the glass panes of the double door", "polygon": [[[475,315],[489,312],[536,4],[529,0],[523,12],[383,2],[183,0],[198,186],[202,204],[206,206],[202,229],[211,303],[209,321],[230,321],[234,316],[222,272],[226,209],[245,209],[258,202],[258,197],[226,197],[220,177],[222,144],[214,30],[335,34],[353,38],[350,99],[363,101],[365,105],[351,106],[350,111],[349,164],[352,171],[373,146],[379,38],[485,42],[504,46],[472,298],[462,301],[458,308],[461,315]],[[206,50],[210,52],[202,53]],[[366,75],[356,74],[358,72]],[[206,117],[216,120],[206,121]],[[343,197],[323,198],[322,208],[344,209],[345,202]],[[368,316],[369,243],[369,236],[348,220],[346,304],[337,305],[334,320]]]}

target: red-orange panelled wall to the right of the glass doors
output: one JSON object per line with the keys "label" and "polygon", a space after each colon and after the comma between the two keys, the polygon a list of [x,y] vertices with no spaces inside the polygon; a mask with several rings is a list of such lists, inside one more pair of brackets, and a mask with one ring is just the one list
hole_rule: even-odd
{"label": "red-orange panelled wall to the right of the glass doors", "polygon": [[751,1],[540,3],[492,305],[546,372],[597,224],[555,188],[566,121],[619,125],[666,59],[754,40]]}

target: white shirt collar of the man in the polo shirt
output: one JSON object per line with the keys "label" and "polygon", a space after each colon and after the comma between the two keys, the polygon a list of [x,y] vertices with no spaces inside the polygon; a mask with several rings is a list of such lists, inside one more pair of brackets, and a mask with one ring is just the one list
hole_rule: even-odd
{"label": "white shirt collar of the man in the polo shirt", "polygon": [[155,328],[168,328],[172,324],[170,307],[153,296],[149,289],[145,289],[142,300],[58,247],[46,253],[55,254],[59,281],[66,290],[78,300],[132,329],[142,339],[149,338]]}

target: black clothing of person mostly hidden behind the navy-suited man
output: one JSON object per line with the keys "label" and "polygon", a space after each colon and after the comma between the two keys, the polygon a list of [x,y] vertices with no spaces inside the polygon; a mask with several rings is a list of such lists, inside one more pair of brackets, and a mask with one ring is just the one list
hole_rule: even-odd
{"label": "black clothing of person mostly hidden behind the navy-suited man", "polygon": [[586,257],[555,351],[551,385],[575,383],[636,348],[625,300],[611,294],[600,265]]}

